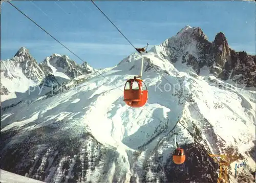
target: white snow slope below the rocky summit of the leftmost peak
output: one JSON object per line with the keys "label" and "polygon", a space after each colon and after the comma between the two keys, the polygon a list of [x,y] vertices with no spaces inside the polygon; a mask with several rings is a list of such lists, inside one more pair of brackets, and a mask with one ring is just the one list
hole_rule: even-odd
{"label": "white snow slope below the rocky summit of the leftmost peak", "polygon": [[24,74],[19,63],[17,65],[13,60],[1,60],[1,107],[33,100],[51,91],[51,87],[40,85],[45,77],[42,74],[40,80],[32,80]]}

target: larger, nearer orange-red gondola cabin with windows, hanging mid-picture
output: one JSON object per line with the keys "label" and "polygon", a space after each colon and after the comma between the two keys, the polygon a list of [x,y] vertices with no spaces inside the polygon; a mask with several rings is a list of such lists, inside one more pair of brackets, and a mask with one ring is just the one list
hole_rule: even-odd
{"label": "larger, nearer orange-red gondola cabin with windows, hanging mid-picture", "polygon": [[123,101],[131,107],[142,107],[147,102],[147,88],[143,90],[143,84],[146,87],[142,79],[129,79],[124,86],[124,99]]}

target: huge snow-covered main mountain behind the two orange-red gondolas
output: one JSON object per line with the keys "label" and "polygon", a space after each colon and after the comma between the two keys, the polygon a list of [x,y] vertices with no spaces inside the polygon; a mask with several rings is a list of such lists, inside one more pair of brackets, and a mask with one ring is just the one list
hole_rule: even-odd
{"label": "huge snow-covered main mountain behind the two orange-red gondolas", "polygon": [[[202,59],[199,30],[185,27],[144,54],[144,107],[123,102],[125,81],[140,71],[134,53],[69,90],[1,111],[1,169],[46,182],[217,182],[209,154],[241,153],[229,178],[253,182],[256,92],[219,78],[223,60]],[[172,161],[174,132],[182,165]]]}

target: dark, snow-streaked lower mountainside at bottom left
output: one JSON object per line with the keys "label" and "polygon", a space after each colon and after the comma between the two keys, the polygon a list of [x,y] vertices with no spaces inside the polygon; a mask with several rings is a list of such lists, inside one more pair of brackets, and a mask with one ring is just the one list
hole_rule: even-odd
{"label": "dark, snow-streaked lower mountainside at bottom left", "polygon": [[[2,149],[1,156],[5,158],[1,158],[1,169],[46,182],[86,180],[87,171],[95,170],[102,161],[101,144],[90,133],[74,138],[67,133],[60,134],[62,138],[51,135],[59,130],[55,126],[59,124],[55,122],[41,130],[33,130],[22,135],[17,146]],[[1,133],[1,146],[5,147],[7,139],[16,133],[15,130]],[[88,151],[92,151],[92,156]]]}

